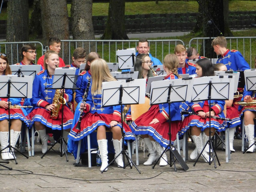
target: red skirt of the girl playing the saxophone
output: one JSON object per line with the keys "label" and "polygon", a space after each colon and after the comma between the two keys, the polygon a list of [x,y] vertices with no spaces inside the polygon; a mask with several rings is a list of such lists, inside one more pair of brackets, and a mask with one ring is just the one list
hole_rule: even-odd
{"label": "red skirt of the girl playing the saxophone", "polygon": [[[31,113],[29,113],[29,117],[32,120],[32,124],[35,121],[41,122],[45,126],[53,129],[53,130],[61,130],[61,118],[62,111],[59,112],[58,119],[54,120],[50,118],[50,111],[44,108],[36,108]],[[72,111],[64,105],[63,108],[63,129],[71,129],[73,122],[74,114]]]}

